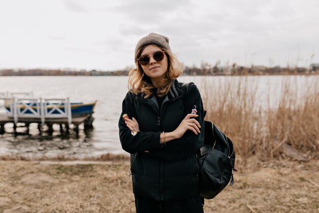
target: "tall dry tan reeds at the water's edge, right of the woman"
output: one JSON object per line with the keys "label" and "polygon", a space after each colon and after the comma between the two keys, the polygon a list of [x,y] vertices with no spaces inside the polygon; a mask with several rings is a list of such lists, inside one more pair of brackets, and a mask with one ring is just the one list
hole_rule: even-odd
{"label": "tall dry tan reeds at the water's edge, right of the woman", "polygon": [[[256,82],[243,78],[226,81],[212,90],[201,84],[206,119],[214,122],[234,142],[237,164],[244,165],[251,156],[259,159],[286,158],[283,143],[291,145],[308,159],[317,158],[319,150],[319,80],[309,81],[307,92],[297,98],[297,82],[287,80],[278,91],[279,103],[257,105]],[[234,86],[236,85],[236,86]],[[264,91],[268,92],[268,91]]]}

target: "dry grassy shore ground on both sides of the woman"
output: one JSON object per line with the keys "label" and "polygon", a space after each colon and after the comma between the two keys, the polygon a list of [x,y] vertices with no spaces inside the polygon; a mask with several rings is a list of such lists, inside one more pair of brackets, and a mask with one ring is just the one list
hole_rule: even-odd
{"label": "dry grassy shore ground on both sides of the woman", "polygon": [[[63,163],[63,164],[62,164]],[[258,162],[207,212],[319,212],[319,162]],[[135,212],[129,161],[0,160],[0,212]]]}

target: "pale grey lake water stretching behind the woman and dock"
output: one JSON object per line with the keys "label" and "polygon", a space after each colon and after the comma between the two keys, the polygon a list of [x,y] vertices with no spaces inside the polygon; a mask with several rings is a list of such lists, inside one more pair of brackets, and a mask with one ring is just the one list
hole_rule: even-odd
{"label": "pale grey lake water stretching behind the woman and dock", "polygon": [[[6,125],[6,133],[0,135],[0,155],[56,156],[74,155],[78,157],[97,156],[104,153],[125,153],[121,149],[118,136],[118,119],[123,98],[127,92],[126,76],[63,76],[63,77],[0,77],[0,92],[31,92],[34,97],[66,98],[71,102],[93,102],[97,100],[93,116],[94,129],[83,131],[80,126],[78,135],[61,135],[59,126],[54,126],[54,133],[39,134],[37,125],[30,126],[30,135],[26,128],[18,128],[19,134],[13,133],[13,125]],[[280,99],[282,85],[291,82],[291,90],[298,91],[302,97],[309,88],[318,88],[319,76],[183,76],[181,82],[194,82],[204,94],[202,84],[212,85],[214,90],[225,89],[223,85],[231,82],[237,89],[240,82],[246,82],[251,92],[256,92],[256,103],[260,106],[270,103],[276,106]],[[257,89],[257,91],[255,91]],[[271,97],[271,100],[268,100]],[[296,97],[296,98],[298,98]],[[302,101],[302,100],[301,100]]]}

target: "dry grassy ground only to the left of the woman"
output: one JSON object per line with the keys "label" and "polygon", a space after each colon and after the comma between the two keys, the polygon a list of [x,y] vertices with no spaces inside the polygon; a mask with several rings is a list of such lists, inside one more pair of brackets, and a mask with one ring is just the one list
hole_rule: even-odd
{"label": "dry grassy ground only to the left of the woman", "polygon": [[[5,209],[51,213],[134,210],[127,176],[129,161],[52,165],[15,160],[0,161],[0,165],[0,212]],[[14,211],[14,208],[18,209]]]}

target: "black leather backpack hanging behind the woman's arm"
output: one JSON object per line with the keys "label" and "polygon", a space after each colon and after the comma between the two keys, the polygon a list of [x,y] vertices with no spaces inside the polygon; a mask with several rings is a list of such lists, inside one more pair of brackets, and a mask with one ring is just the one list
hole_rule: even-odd
{"label": "black leather backpack hanging behind the woman's arm", "polygon": [[[187,94],[191,83],[182,85]],[[206,115],[206,111],[205,111]],[[228,138],[215,124],[204,121],[204,145],[196,154],[199,167],[200,196],[205,199],[216,197],[229,183],[233,184],[235,151]]]}

